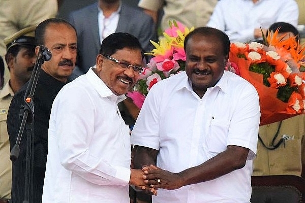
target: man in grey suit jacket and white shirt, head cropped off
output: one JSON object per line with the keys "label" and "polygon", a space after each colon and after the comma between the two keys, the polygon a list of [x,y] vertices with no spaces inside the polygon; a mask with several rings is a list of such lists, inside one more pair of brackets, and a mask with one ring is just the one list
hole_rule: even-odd
{"label": "man in grey suit jacket and white shirt, head cropped off", "polygon": [[156,39],[153,19],[120,0],[99,0],[72,12],[69,21],[78,35],[78,69],[74,72],[74,78],[85,74],[95,64],[101,42],[113,32],[131,33],[138,38],[146,52],[153,48],[149,40]]}

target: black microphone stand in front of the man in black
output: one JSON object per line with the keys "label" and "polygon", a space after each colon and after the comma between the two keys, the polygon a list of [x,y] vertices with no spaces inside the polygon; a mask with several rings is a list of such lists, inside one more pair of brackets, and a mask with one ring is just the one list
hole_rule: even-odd
{"label": "black microphone stand in front of the man in black", "polygon": [[25,162],[25,182],[24,182],[24,200],[23,203],[29,203],[33,198],[33,178],[34,178],[34,92],[36,89],[41,65],[44,61],[50,60],[52,57],[51,52],[43,45],[39,46],[39,53],[37,54],[34,69],[29,79],[27,88],[24,94],[24,105],[22,105],[19,116],[22,118],[19,128],[16,144],[12,148],[10,159],[15,161],[20,152],[20,141],[24,127],[27,132],[26,137],[26,162]]}

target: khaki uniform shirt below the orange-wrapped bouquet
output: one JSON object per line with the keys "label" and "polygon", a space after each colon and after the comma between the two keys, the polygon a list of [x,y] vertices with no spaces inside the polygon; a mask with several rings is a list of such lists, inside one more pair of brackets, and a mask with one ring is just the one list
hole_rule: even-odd
{"label": "khaki uniform shirt below the orange-wrapped bouquet", "polygon": [[[280,122],[259,127],[259,136],[266,146],[270,146]],[[305,115],[294,116],[282,121],[278,138],[284,134],[291,137],[275,150],[266,149],[260,141],[257,146],[257,156],[254,160],[254,176],[296,175],[300,176],[302,165],[305,166]]]}

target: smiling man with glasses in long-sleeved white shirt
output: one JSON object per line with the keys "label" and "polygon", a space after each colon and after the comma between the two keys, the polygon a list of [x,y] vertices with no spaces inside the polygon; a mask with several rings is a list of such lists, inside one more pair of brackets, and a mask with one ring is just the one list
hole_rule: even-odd
{"label": "smiling man with glasses in long-sleeved white shirt", "polygon": [[117,107],[139,79],[142,59],[137,38],[113,33],[103,40],[96,65],[57,94],[43,203],[128,203],[129,184],[144,185],[143,172],[130,169],[129,126]]}

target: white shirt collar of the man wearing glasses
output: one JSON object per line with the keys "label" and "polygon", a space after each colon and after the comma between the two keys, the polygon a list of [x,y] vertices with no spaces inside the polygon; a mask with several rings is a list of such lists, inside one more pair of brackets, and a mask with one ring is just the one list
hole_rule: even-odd
{"label": "white shirt collar of the man wearing glasses", "polygon": [[97,74],[93,71],[96,69],[96,66],[90,67],[89,71],[86,73],[86,78],[93,85],[93,87],[97,90],[101,97],[109,97],[111,100],[114,100],[116,103],[123,101],[126,99],[126,96],[123,95],[115,95],[109,87],[97,76]]}

